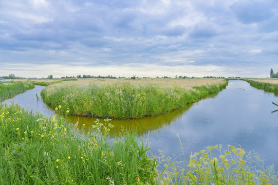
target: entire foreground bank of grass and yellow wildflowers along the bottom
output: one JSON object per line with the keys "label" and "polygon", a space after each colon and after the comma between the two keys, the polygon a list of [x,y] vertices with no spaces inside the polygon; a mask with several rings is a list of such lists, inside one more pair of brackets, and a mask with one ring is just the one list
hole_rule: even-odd
{"label": "entire foreground bank of grass and yellow wildflowers along the bottom", "polygon": [[244,157],[243,149],[229,146],[223,152],[221,146],[211,146],[182,165],[162,155],[146,155],[148,146],[134,133],[108,138],[112,127],[97,122],[89,133],[80,135],[82,130],[59,116],[44,118],[18,105],[0,105],[0,184],[277,182],[273,168],[264,170],[258,157]]}

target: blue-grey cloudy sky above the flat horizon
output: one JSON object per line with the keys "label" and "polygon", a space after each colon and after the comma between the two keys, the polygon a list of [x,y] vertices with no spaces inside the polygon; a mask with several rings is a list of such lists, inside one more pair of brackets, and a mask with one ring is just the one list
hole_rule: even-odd
{"label": "blue-grey cloudy sky above the flat horizon", "polygon": [[276,0],[0,1],[0,76],[266,78]]}

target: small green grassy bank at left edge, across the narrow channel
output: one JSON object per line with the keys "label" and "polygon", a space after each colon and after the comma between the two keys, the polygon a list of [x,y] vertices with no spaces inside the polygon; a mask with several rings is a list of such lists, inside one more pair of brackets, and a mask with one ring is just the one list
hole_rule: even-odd
{"label": "small green grassy bank at left edge, across the narrow channel", "polygon": [[5,85],[3,82],[0,82],[0,102],[10,99],[15,95],[23,93],[25,90],[32,88],[34,88],[34,85],[29,81],[12,81],[7,85]]}

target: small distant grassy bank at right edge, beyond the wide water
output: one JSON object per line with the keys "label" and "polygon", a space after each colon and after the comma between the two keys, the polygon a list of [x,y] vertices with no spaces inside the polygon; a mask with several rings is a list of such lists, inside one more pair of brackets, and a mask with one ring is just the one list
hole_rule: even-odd
{"label": "small distant grassy bank at right edge, beyond the wide water", "polygon": [[256,80],[245,80],[247,81],[252,87],[262,89],[268,93],[274,93],[275,96],[278,96],[278,80],[264,80],[256,81]]}

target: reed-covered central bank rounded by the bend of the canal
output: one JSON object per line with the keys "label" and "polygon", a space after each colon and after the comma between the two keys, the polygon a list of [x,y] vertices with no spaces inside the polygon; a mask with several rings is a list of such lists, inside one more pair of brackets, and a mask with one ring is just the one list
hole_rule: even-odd
{"label": "reed-covered central bank rounded by the bend of the canal", "polygon": [[114,84],[71,84],[49,86],[42,91],[44,101],[71,115],[105,118],[142,118],[158,115],[195,102],[225,88],[228,82],[186,89],[181,86],[147,84],[135,86],[129,82]]}

